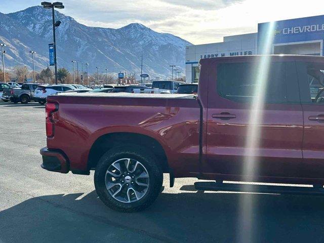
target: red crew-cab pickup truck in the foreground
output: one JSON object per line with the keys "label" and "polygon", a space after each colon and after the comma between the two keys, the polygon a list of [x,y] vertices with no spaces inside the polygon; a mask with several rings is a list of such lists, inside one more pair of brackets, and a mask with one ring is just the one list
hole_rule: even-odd
{"label": "red crew-cab pickup truck in the foreground", "polygon": [[202,190],[324,194],[324,58],[235,56],[199,65],[197,96],[49,96],[42,168],[95,170],[99,197],[123,212],[152,204],[163,173],[170,186],[195,177],[215,181],[196,182]]}

